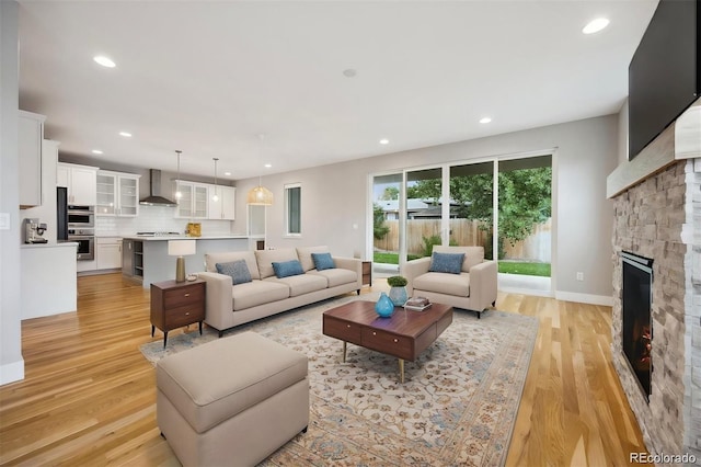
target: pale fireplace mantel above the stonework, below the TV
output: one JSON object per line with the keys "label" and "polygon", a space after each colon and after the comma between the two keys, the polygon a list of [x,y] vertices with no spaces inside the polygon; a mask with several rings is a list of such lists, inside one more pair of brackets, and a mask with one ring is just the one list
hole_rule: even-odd
{"label": "pale fireplace mantel above the stonework, below the TV", "polygon": [[612,198],[678,160],[701,158],[701,99],[653,140],[633,160],[623,162],[606,180]]}

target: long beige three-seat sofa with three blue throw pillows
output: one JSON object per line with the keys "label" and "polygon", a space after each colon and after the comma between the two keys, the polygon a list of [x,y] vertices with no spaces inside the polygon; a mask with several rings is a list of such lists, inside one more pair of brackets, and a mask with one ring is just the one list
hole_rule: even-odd
{"label": "long beige three-seat sofa with three blue throw pillows", "polygon": [[[207,282],[205,322],[221,337],[249,321],[353,291],[360,294],[363,262],[333,257],[335,267],[318,271],[312,253],[327,252],[326,247],[311,247],[205,254],[206,272],[198,274]],[[251,282],[234,285],[231,276],[217,273],[216,265],[239,260],[245,261]],[[278,278],[273,263],[294,260],[303,274]]]}

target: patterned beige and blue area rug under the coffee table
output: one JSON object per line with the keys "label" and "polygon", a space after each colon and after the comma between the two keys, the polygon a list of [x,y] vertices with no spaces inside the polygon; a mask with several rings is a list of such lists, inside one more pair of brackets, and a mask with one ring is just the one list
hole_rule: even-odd
{"label": "patterned beige and blue area rug under the coffee table", "polygon": [[[341,297],[231,330],[254,331],[309,357],[310,424],[262,466],[504,465],[538,321],[503,311],[457,309],[452,324],[399,383],[397,358],[321,331],[321,314],[363,297]],[[414,311],[399,311],[414,312]],[[141,346],[159,358],[217,339],[207,329]]]}

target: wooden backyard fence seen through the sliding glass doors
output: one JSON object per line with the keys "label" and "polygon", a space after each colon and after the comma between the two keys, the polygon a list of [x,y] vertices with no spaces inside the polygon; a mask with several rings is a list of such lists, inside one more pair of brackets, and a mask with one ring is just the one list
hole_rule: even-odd
{"label": "wooden backyard fence seen through the sliding glass doors", "polygon": [[[489,232],[480,229],[482,223],[470,219],[450,219],[450,239],[457,244],[481,244],[487,241]],[[390,231],[381,240],[375,240],[375,249],[399,251],[399,220],[386,220]],[[527,239],[504,244],[507,260],[528,259],[550,262],[551,219],[533,226],[533,232]],[[410,254],[423,255],[424,238],[440,237],[440,219],[410,219],[406,223],[406,248]]]}

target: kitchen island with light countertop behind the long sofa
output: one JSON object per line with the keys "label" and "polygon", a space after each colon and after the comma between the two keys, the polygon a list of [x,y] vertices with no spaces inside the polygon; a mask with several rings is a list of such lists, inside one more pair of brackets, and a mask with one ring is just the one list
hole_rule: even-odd
{"label": "kitchen island with light countertop behind the long sofa", "polygon": [[252,250],[256,238],[250,236],[124,236],[122,240],[122,274],[149,288],[153,282],[175,278],[175,257],[168,254],[168,240],[193,240],[196,253],[185,258],[185,273],[205,271],[205,253]]}

